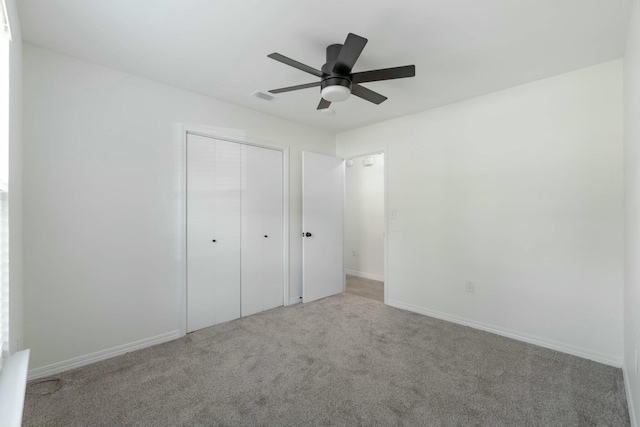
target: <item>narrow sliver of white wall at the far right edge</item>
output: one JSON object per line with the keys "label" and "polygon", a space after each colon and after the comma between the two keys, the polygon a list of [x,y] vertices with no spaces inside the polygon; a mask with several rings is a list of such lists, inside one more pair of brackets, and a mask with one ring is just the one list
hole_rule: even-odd
{"label": "narrow sliver of white wall at the far right edge", "polygon": [[636,352],[640,347],[640,2],[635,1],[624,58],[624,188],[625,188],[625,382],[632,425],[640,413],[640,377]]}

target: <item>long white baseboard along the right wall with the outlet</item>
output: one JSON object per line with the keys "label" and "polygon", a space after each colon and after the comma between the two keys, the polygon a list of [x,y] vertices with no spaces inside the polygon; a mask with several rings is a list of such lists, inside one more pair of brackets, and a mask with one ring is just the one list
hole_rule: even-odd
{"label": "long white baseboard along the right wall with the outlet", "polygon": [[500,326],[494,326],[475,320],[465,319],[463,317],[441,313],[435,310],[429,310],[426,308],[418,307],[411,304],[406,304],[400,301],[387,301],[387,305],[391,307],[400,308],[403,310],[412,311],[414,313],[424,314],[425,316],[435,317],[436,319],[446,320],[448,322],[457,323],[459,325],[469,326],[474,329],[480,329],[492,334],[501,335],[503,337],[512,338],[518,341],[524,341],[529,344],[534,344],[540,347],[549,348],[562,353],[571,354],[573,356],[582,357],[583,359],[593,360],[594,362],[603,363],[605,365],[613,366],[616,368],[622,367],[622,358],[614,357],[608,354],[602,354],[599,352],[591,351],[582,347],[576,347],[570,344],[561,343],[554,340],[545,339],[542,337],[529,335],[526,333],[514,331]]}

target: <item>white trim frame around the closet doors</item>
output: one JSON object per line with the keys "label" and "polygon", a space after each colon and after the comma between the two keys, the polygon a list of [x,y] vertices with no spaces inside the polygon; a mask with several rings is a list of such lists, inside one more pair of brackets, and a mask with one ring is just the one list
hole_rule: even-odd
{"label": "white trim frame around the closet doors", "polygon": [[283,211],[283,275],[282,305],[289,305],[289,147],[258,138],[247,137],[244,131],[214,128],[201,125],[177,123],[174,136],[178,143],[179,156],[179,215],[178,215],[178,259],[180,260],[180,335],[187,334],[187,135],[198,135],[236,144],[251,145],[282,152],[282,211]]}

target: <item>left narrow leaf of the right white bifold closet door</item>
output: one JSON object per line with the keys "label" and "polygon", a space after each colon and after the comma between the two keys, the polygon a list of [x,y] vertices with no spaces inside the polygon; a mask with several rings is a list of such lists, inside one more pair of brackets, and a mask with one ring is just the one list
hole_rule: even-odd
{"label": "left narrow leaf of the right white bifold closet door", "polygon": [[242,170],[242,315],[263,310],[262,148],[245,145]]}

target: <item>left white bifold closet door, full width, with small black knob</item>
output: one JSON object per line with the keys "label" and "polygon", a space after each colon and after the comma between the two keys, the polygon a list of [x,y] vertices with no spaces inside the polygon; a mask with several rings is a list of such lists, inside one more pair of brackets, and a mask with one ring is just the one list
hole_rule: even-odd
{"label": "left white bifold closet door, full width, with small black knob", "polygon": [[240,317],[240,146],[187,137],[187,331]]}

